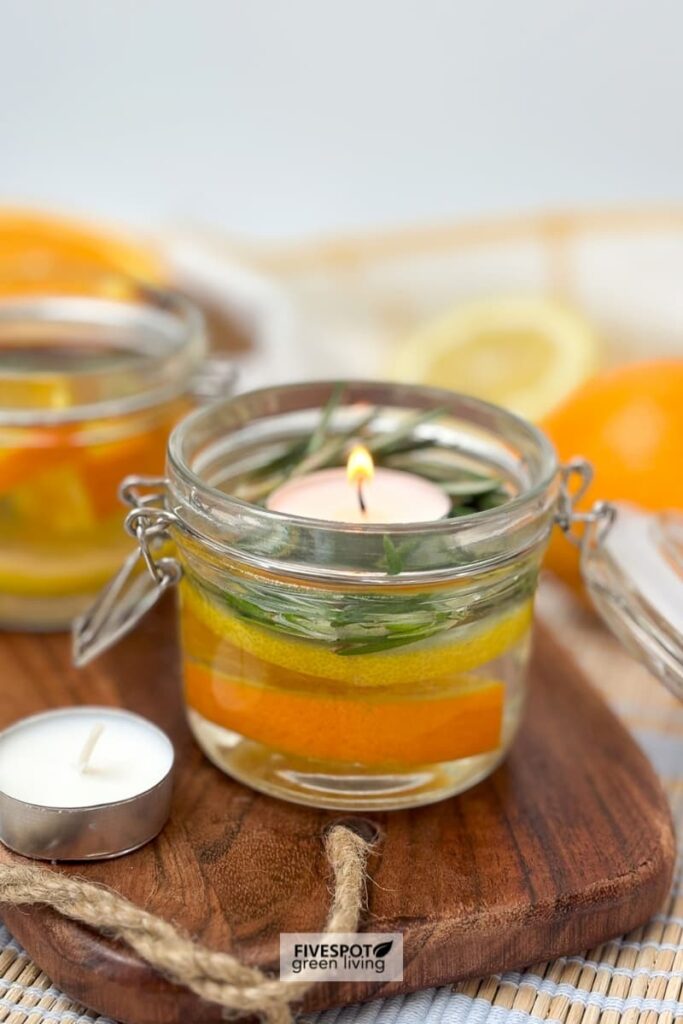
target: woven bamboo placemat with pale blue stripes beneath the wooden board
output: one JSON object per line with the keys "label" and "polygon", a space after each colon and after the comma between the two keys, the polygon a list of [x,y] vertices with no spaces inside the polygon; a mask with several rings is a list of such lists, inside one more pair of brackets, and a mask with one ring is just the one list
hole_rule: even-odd
{"label": "woven bamboo placemat with pale blue stripes beneath the wooden board", "polygon": [[[557,587],[540,605],[659,771],[683,834],[683,705]],[[667,905],[644,928],[581,955],[523,972],[331,1010],[310,1024],[673,1024],[683,1018],[681,865]],[[113,1024],[51,985],[0,928],[0,1021]],[[196,1024],[196,1022],[187,1022]]]}

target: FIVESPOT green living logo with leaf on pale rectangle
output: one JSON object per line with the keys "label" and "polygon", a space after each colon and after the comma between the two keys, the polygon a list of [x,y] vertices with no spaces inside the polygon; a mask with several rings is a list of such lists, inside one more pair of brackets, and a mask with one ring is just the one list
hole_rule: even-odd
{"label": "FIVESPOT green living logo with leaf on pale rectangle", "polygon": [[285,932],[280,977],[297,981],[402,981],[400,932]]}

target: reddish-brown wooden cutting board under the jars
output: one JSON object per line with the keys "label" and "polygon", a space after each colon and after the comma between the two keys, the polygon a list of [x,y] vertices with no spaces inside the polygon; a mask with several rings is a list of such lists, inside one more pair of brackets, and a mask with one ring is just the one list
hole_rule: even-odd
{"label": "reddish-brown wooden cutting board under the jars", "polygon": [[[318,931],[333,812],[232,782],[193,742],[180,699],[171,602],[116,651],[71,667],[66,636],[0,636],[0,726],[46,708],[122,705],[172,736],[172,817],[120,860],[54,868],[101,882],[217,949],[275,968],[281,931]],[[364,927],[404,935],[402,983],[315,986],[308,1010],[524,967],[645,922],[670,885],[674,836],[640,750],[546,631],[531,695],[504,767],[417,811],[373,814]],[[3,862],[22,858],[0,848]],[[130,1024],[204,1024],[221,1010],[167,982],[126,947],[43,907],[3,907],[7,927],[70,996]]]}

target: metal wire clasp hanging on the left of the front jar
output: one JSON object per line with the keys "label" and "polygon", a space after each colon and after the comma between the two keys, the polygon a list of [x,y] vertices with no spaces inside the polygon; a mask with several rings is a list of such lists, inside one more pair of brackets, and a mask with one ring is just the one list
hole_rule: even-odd
{"label": "metal wire clasp hanging on the left of the front jar", "polygon": [[73,658],[86,665],[125,636],[182,575],[176,558],[163,553],[176,516],[164,508],[163,477],[127,476],[121,500],[130,506],[124,527],[137,547],[73,629]]}

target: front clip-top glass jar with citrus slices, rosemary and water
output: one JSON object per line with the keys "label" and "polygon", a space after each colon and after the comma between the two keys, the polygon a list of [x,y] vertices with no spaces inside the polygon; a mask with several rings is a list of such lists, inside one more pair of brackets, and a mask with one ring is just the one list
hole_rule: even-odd
{"label": "front clip-top glass jar with citrus slices, rosemary and water", "polygon": [[[419,437],[465,468],[494,471],[511,499],[385,526],[290,516],[234,497],[246,468],[276,464],[284,446],[312,434],[332,389],[272,388],[190,415],[171,436],[163,487],[152,481],[142,497],[127,486],[136,506],[128,525],[158,588],[180,581],[187,717],[219,768],[317,807],[417,806],[489,774],[514,738],[560,474],[545,436],[501,409],[364,382],[345,387],[331,432],[348,433],[369,406],[381,410],[370,427],[379,435],[438,409]],[[159,535],[171,538],[175,558],[155,556]],[[124,574],[134,596],[121,603],[120,578],[81,622],[81,660],[137,617],[132,562]]]}

